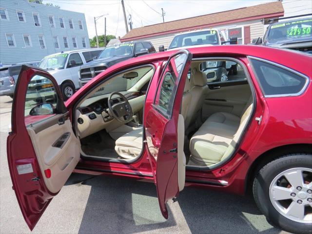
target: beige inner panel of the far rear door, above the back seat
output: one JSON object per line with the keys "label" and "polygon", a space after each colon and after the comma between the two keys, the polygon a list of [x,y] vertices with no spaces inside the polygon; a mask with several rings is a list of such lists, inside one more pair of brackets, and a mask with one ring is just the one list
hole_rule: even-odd
{"label": "beige inner panel of the far rear door, above the back seat", "polygon": [[251,95],[248,84],[222,86],[218,89],[209,89],[205,95],[202,108],[202,120],[216,112],[227,112],[240,116],[245,104]]}

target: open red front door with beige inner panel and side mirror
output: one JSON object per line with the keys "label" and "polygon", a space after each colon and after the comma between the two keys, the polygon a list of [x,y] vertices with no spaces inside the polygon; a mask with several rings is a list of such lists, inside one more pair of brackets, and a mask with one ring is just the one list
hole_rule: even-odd
{"label": "open red front door with beige inner panel and side mirror", "polygon": [[23,65],[20,71],[7,156],[20,210],[33,230],[80,157],[58,84],[39,68]]}

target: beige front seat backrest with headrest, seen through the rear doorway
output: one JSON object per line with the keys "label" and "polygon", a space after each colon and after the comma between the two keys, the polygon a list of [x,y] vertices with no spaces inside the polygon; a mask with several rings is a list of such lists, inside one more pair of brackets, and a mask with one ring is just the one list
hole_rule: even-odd
{"label": "beige front seat backrest with headrest, seen through the rear doorway", "polygon": [[198,71],[196,68],[192,68],[191,84],[194,86],[190,90],[191,103],[189,105],[186,117],[185,117],[185,131],[188,132],[190,124],[195,123],[197,117],[200,116],[200,110],[204,102],[204,94],[208,90],[207,77],[204,72]]}

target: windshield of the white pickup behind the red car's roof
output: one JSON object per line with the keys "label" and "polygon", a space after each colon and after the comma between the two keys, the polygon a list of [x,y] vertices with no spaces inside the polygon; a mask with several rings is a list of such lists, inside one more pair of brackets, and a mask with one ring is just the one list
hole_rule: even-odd
{"label": "windshield of the white pickup behind the red car's roof", "polygon": [[208,30],[177,35],[171,42],[168,49],[192,45],[217,45],[219,44],[217,31]]}

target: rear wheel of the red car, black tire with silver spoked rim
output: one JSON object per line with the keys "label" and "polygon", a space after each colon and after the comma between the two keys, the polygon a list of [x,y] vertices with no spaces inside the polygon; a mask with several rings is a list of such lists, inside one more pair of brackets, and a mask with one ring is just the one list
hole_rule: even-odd
{"label": "rear wheel of the red car, black tire with silver spoked rim", "polygon": [[[298,177],[295,177],[296,175]],[[295,185],[285,180],[287,177]],[[303,177],[304,184],[298,183],[302,179],[294,180],[294,177]],[[273,225],[291,233],[312,234],[312,221],[310,221],[312,220],[310,219],[312,217],[310,216],[312,215],[312,200],[310,202],[308,200],[312,199],[312,191],[308,191],[307,188],[307,184],[311,183],[311,180],[311,154],[292,154],[279,157],[265,165],[255,176],[253,184],[254,201]],[[299,185],[302,187],[301,190],[296,187]],[[284,188],[281,189],[281,187]],[[287,190],[285,193],[282,191],[284,189]],[[302,203],[298,200],[301,200]],[[282,215],[283,212],[286,212],[285,209],[292,208],[290,205],[299,208],[299,211],[303,209],[306,213],[289,209],[289,212],[294,212],[293,215],[285,213]],[[300,214],[303,214],[303,218],[300,218]]]}

